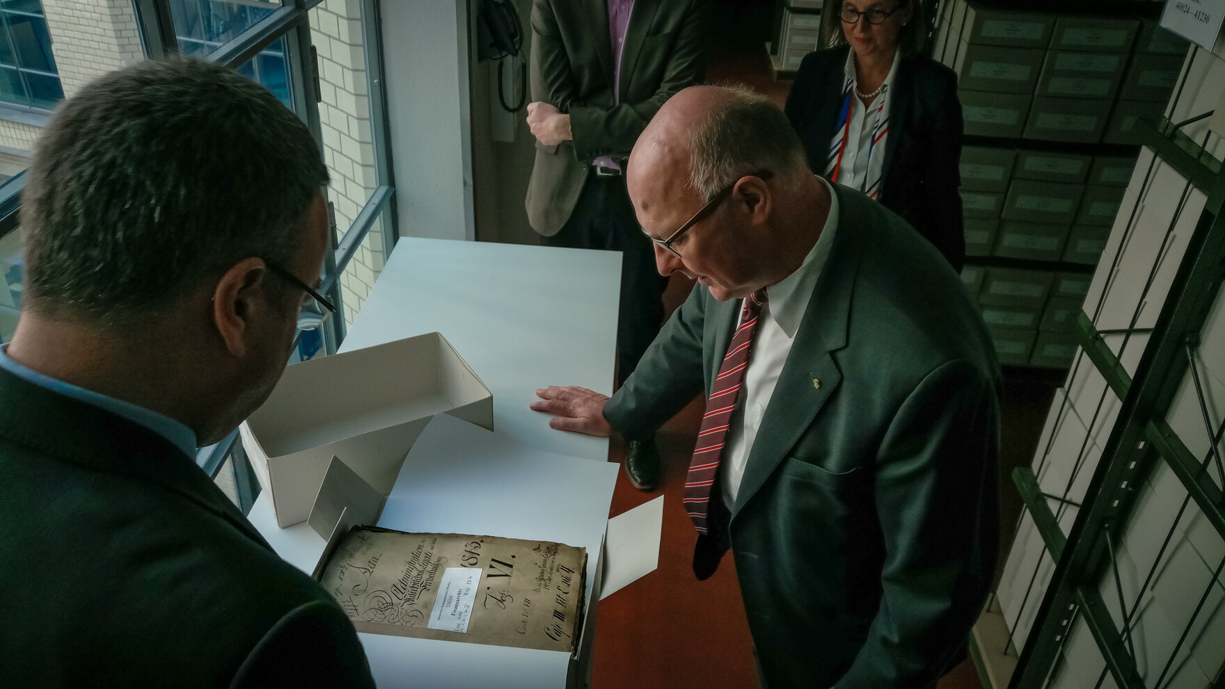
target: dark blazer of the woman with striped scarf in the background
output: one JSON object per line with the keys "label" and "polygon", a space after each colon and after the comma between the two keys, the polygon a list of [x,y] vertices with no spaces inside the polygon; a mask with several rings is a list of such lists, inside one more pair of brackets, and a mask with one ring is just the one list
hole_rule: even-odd
{"label": "dark blazer of the woman with striped scarf in the background", "polygon": [[[786,98],[786,116],[809,152],[809,168],[824,174],[838,128],[849,47],[810,53]],[[944,255],[958,272],[965,261],[962,223],[962,103],[957,73],[922,55],[902,58],[889,93],[881,203]]]}

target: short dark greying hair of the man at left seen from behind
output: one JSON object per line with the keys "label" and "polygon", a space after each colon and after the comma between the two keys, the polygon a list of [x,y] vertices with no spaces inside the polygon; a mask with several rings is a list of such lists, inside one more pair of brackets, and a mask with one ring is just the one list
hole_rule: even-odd
{"label": "short dark greying hair of the man at left seen from behind", "polygon": [[36,147],[27,308],[121,322],[244,258],[285,266],[327,180],[310,130],[233,70],[170,59],[110,72]]}

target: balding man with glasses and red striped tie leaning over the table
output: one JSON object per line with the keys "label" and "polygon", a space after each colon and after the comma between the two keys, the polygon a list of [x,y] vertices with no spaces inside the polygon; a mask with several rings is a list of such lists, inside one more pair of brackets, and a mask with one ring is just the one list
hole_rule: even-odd
{"label": "balding man with glasses and red striped tie leaning over the table", "polygon": [[693,570],[729,548],[763,687],[929,687],[992,576],[1000,370],[957,274],[813,176],[764,99],[685,89],[627,184],[688,300],[611,399],[538,390],[554,428],[652,432],[708,397],[685,488]]}

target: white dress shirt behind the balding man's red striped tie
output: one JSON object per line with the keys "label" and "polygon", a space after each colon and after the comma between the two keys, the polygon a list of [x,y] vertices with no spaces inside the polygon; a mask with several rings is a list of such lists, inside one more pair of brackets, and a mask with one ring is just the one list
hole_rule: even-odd
{"label": "white dress shirt behind the balding man's red striped tie", "polygon": [[[795,333],[800,329],[800,321],[809,308],[809,297],[812,296],[812,289],[821,277],[826,258],[829,257],[834,230],[838,228],[838,197],[834,196],[829,182],[820,176],[817,179],[829,193],[829,215],[826,218],[821,236],[794,273],[767,288],[768,299],[757,316],[753,349],[740,387],[736,410],[731,414],[730,427],[724,438],[726,449],[719,467],[723,476],[723,499],[728,509],[736,503],[740,481],[745,476],[745,464],[748,461],[753,441],[757,439],[757,430],[761,428],[769,398],[774,394],[774,385],[783,372],[783,365],[786,363],[786,356],[791,352]],[[739,323],[736,326],[739,327]]]}

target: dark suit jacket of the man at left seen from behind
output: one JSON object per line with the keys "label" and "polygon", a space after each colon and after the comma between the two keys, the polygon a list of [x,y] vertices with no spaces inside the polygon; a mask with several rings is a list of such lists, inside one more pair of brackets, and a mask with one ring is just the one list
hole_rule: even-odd
{"label": "dark suit jacket of the man at left seen from behind", "polygon": [[183,450],[0,370],[0,687],[374,687]]}

